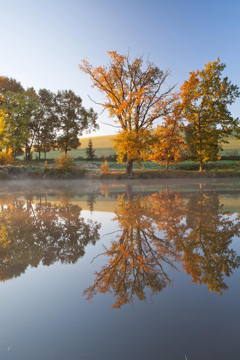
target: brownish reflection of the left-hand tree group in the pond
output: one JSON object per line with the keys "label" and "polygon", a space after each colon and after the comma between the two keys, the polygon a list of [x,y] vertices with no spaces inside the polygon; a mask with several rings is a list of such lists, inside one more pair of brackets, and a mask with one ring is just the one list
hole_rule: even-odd
{"label": "brownish reflection of the left-hand tree group in the pond", "polygon": [[1,202],[0,280],[21,275],[30,266],[56,261],[75,263],[87,244],[99,239],[100,224],[81,217],[81,208],[64,202],[53,204],[47,198],[32,204],[9,198]]}

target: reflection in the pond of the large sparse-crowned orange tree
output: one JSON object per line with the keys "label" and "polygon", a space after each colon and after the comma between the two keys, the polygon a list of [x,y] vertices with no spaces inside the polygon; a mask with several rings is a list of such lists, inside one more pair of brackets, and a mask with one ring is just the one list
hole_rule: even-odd
{"label": "reflection in the pond of the large sparse-crowned orange tree", "polygon": [[116,296],[113,307],[132,301],[135,294],[145,300],[146,286],[152,294],[161,291],[171,282],[162,262],[174,266],[169,257],[171,245],[159,242],[155,235],[148,201],[136,199],[126,203],[123,196],[118,201],[114,220],[118,221],[121,235],[105,251],[108,264],[96,273],[94,285],[85,289],[89,299],[96,292],[113,291]]}

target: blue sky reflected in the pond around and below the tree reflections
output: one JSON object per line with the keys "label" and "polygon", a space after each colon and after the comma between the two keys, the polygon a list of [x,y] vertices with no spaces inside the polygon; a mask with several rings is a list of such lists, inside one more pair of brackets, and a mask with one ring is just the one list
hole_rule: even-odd
{"label": "blue sky reflected in the pond around and below the tree reflections", "polygon": [[[227,199],[228,207],[224,218],[236,224],[239,199],[226,193],[226,186],[218,186],[221,190],[220,204]],[[111,310],[112,294],[96,294],[89,303],[82,292],[107,259],[91,261],[117,233],[103,235],[118,227],[111,221],[113,212],[82,210],[81,217],[101,222],[101,238],[85,247],[76,264],[40,264],[0,283],[0,359],[178,360],[184,354],[188,360],[239,358],[239,270],[225,279],[228,290],[222,297],[205,284],[192,283],[178,264],[179,272],[169,272],[173,286],[154,296],[153,303],[148,297],[148,305],[136,299],[133,309],[130,304]],[[239,251],[239,238],[230,247]]]}

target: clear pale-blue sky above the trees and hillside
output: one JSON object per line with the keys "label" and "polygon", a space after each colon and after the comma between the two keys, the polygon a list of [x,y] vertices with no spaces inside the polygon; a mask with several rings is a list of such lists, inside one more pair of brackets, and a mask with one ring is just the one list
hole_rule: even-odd
{"label": "clear pale-blue sky above the trees and hillside", "polygon": [[[96,102],[103,95],[78,64],[85,57],[94,66],[106,64],[107,50],[149,54],[159,68],[171,69],[176,89],[190,71],[219,56],[227,64],[224,75],[240,86],[239,13],[239,0],[0,0],[0,74],[36,90],[72,89],[99,113],[87,95]],[[240,117],[240,99],[230,111]],[[113,123],[106,112],[99,120]],[[91,136],[116,130],[99,125]]]}

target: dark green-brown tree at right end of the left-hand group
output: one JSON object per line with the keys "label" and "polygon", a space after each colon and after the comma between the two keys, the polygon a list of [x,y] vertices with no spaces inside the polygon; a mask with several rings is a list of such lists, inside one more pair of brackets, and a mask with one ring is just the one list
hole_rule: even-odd
{"label": "dark green-brown tree at right end of the left-hand group", "polygon": [[79,136],[83,131],[99,129],[96,123],[97,113],[92,108],[85,109],[82,99],[72,90],[58,91],[55,97],[55,109],[59,119],[60,135],[56,146],[67,153],[80,146]]}

